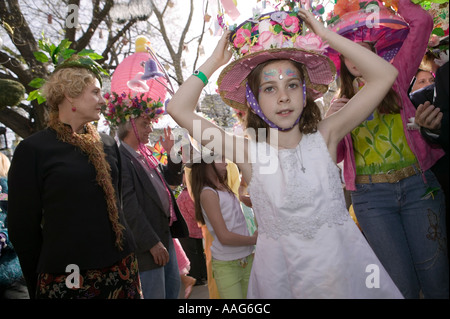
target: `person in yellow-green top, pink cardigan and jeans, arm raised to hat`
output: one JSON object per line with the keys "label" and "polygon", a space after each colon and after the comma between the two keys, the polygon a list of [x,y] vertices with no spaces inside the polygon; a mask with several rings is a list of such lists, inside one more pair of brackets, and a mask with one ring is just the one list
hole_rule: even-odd
{"label": "person in yellow-green top, pink cardigan and jeans, arm raised to hat", "polygon": [[[364,10],[343,14],[332,26],[386,60],[393,59],[399,70],[374,112],[342,140],[337,158],[344,160],[345,186],[358,223],[404,297],[419,298],[422,292],[425,298],[448,298],[445,198],[430,170],[443,151],[411,125],[416,109],[407,94],[433,23],[410,0],[399,0],[399,15],[382,5],[379,12],[376,30],[354,24]],[[399,36],[405,21],[409,32]],[[340,91],[329,114],[365,88],[365,76],[354,61],[345,54],[339,58]]]}

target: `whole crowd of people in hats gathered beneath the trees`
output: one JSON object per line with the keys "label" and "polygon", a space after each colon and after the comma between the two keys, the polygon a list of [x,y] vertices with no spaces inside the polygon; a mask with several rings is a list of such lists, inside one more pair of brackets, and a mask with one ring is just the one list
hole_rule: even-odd
{"label": "whole crowd of people in hats gathered beneath the trees", "polygon": [[[98,70],[58,65],[48,128],[1,161],[2,297],[177,299],[207,283],[221,299],[448,299],[448,62],[419,69],[433,26],[419,5],[377,3],[390,23],[376,30],[364,8],[328,28],[298,8],[224,31],[167,105],[191,137],[216,134],[186,159],[165,129],[166,165],[148,147],[159,104],[123,95],[130,107],[105,115],[116,139],[99,133]],[[195,112],[223,66],[244,135]]]}

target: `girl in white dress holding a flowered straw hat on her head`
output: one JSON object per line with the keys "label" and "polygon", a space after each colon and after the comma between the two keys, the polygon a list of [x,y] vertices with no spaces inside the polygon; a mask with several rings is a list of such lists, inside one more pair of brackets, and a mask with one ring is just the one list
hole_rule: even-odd
{"label": "girl in white dress holding a flowered straw hat on her head", "polygon": [[[316,35],[302,35],[302,20]],[[235,41],[238,34],[244,41]],[[194,112],[207,78],[232,56],[228,39],[239,58],[220,74],[219,92],[229,105],[247,110],[248,139]],[[335,72],[317,52],[323,42],[351,56],[368,81],[345,109],[320,121],[314,98],[326,92]],[[402,298],[351,220],[336,166],[339,141],[367,118],[396,76],[389,63],[300,8],[262,15],[231,37],[226,33],[172,98],[167,110],[175,121],[235,162],[249,182],[258,239],[248,298]]]}

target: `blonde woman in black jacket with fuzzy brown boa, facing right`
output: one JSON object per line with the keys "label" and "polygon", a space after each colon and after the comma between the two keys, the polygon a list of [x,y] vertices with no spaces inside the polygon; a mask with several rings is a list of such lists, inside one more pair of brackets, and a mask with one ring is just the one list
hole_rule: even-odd
{"label": "blonde woman in black jacket with fuzzy brown boa, facing right", "polygon": [[140,298],[121,211],[120,155],[99,134],[100,76],[72,58],[44,86],[48,128],[16,148],[9,230],[31,298]]}

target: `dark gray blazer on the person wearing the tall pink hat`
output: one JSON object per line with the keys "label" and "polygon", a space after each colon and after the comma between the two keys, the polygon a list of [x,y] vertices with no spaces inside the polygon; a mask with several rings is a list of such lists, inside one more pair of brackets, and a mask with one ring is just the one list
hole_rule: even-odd
{"label": "dark gray blazer on the person wearing the tall pink hat", "polygon": [[[123,212],[136,243],[139,270],[155,269],[160,266],[155,264],[150,248],[158,242],[168,247],[169,231],[172,238],[185,238],[189,237],[189,230],[172,192],[177,220],[169,227],[161,199],[139,160],[124,145],[121,144],[119,150],[122,157]],[[168,187],[182,183],[181,166],[181,163],[175,164],[170,159],[166,166],[159,165],[158,169]]]}

